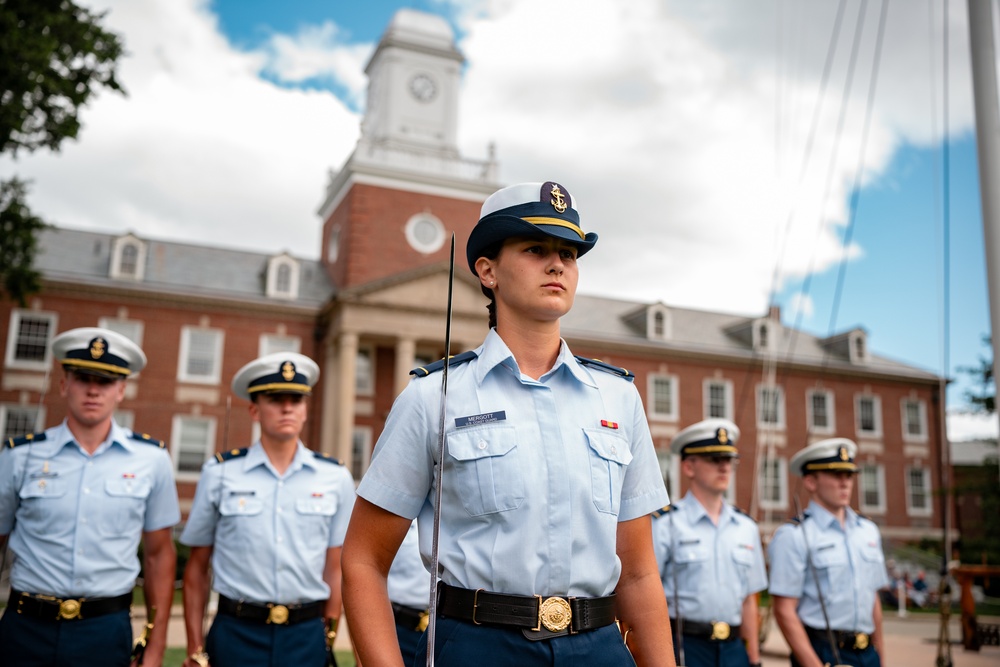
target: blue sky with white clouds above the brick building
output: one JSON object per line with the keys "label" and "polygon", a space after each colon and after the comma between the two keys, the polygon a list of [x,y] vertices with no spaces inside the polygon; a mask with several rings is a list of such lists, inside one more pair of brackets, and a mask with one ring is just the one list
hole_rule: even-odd
{"label": "blue sky with white clouds above the brick building", "polygon": [[[78,2],[123,36],[128,94],[59,153],[0,158],[53,224],[317,257],[364,67],[409,7],[466,58],[463,156],[559,181],[601,236],[582,293],[860,326],[954,378],[954,413],[991,356],[965,2]],[[949,418],[952,439],[997,430]]]}

